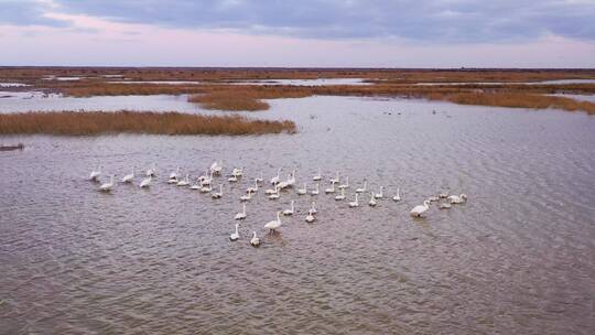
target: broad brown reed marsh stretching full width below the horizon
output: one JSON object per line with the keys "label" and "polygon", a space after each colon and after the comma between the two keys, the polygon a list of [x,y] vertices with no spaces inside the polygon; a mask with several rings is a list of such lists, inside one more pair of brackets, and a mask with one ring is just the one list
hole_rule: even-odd
{"label": "broad brown reed marsh stretching full width below the horizon", "polygon": [[[47,80],[47,76],[80,79]],[[245,82],[317,78],[360,78],[369,85],[290,86]],[[73,97],[187,94],[190,101],[215,110],[267,110],[267,99],[326,95],[425,98],[462,105],[595,114],[594,102],[552,96],[595,95],[595,83],[542,84],[567,79],[593,80],[595,69],[0,67],[0,80],[25,83],[30,88]],[[159,80],[178,80],[180,85]]]}

